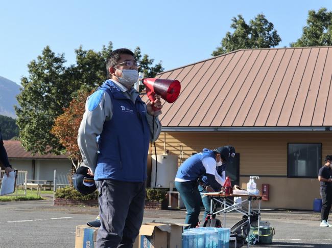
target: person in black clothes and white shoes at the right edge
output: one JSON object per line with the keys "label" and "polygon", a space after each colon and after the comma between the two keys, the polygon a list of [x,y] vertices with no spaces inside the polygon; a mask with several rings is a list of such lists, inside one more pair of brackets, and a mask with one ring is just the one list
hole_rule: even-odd
{"label": "person in black clothes and white shoes at the right edge", "polygon": [[320,211],[320,227],[332,227],[328,223],[328,214],[332,206],[332,155],[326,155],[325,165],[319,169],[318,181],[320,182],[320,196],[322,197],[322,209]]}

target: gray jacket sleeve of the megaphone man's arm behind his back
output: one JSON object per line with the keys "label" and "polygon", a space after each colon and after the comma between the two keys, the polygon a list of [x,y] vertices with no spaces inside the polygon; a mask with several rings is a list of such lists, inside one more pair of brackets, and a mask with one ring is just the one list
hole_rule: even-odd
{"label": "gray jacket sleeve of the megaphone man's arm behind his back", "polygon": [[113,106],[110,96],[105,92],[99,105],[92,111],[88,109],[88,99],[85,103],[85,112],[78,131],[77,142],[84,165],[89,167],[94,173],[98,156],[97,136],[102,133],[104,122],[112,118]]}

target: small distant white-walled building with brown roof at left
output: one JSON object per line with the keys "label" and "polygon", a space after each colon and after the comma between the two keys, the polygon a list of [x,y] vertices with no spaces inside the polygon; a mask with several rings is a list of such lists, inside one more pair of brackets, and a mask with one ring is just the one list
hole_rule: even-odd
{"label": "small distant white-walled building with brown roof at left", "polygon": [[33,155],[22,147],[20,141],[4,141],[4,146],[12,167],[18,170],[28,171],[27,179],[53,181],[54,170],[57,170],[59,179],[63,177],[61,178],[63,181],[71,171],[72,162],[68,159],[66,154],[37,153]]}

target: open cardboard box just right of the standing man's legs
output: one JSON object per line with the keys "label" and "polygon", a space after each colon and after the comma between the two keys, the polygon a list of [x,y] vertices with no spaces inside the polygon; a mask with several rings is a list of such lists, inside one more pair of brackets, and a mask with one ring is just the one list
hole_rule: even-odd
{"label": "open cardboard box just right of the standing man's legs", "polygon": [[145,223],[139,230],[139,248],[182,248],[183,226],[177,223]]}

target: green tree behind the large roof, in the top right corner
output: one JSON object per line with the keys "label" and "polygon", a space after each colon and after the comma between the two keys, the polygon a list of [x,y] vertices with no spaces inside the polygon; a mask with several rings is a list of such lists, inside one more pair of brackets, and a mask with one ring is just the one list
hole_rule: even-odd
{"label": "green tree behind the large roof, in the top right corner", "polygon": [[291,47],[332,46],[332,12],[325,8],[310,10],[302,36]]}

